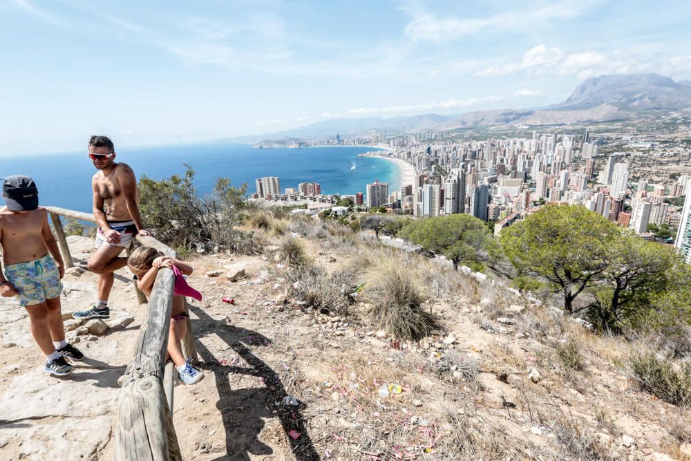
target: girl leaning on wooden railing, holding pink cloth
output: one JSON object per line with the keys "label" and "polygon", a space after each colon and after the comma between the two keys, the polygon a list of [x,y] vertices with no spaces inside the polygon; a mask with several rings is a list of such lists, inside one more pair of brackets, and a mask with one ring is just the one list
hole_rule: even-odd
{"label": "girl leaning on wooden railing, holding pink cloth", "polygon": [[184,310],[184,297],[190,296],[201,300],[199,292],[189,287],[184,281],[184,275],[192,273],[193,267],[178,259],[162,255],[158,250],[151,247],[138,247],[127,259],[129,269],[137,277],[139,289],[146,294],[146,299],[151,297],[153,282],[162,267],[168,267],[176,274],[176,288],[173,294],[173,307],[171,310],[171,326],[168,335],[168,355],[178,369],[180,382],[191,386],[196,384],[204,375],[189,364],[189,359],[185,361],[182,354],[182,344],[180,340],[187,334],[187,312]]}

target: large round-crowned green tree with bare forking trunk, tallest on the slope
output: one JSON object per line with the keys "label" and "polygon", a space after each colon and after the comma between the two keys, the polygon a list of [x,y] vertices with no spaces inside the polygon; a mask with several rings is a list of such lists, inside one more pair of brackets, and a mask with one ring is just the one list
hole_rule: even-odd
{"label": "large round-crowned green tree with bare forking trunk, tallest on the slope", "polygon": [[540,276],[563,295],[564,308],[596,285],[607,268],[609,247],[619,229],[580,205],[546,205],[502,231],[504,254],[520,275]]}

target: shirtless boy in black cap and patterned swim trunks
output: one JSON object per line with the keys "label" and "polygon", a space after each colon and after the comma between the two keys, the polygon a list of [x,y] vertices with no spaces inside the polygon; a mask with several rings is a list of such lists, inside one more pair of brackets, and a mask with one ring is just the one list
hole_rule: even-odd
{"label": "shirtless boy in black cap and patterned swim trunks", "polygon": [[[3,182],[6,207],[0,208],[0,246],[5,273],[0,271],[0,295],[17,297],[26,308],[31,334],[46,355],[44,370],[68,375],[70,360],[84,355],[65,341],[60,279],[64,264],[50,232],[48,211],[39,207],[38,189],[27,176],[10,176]],[[52,256],[52,257],[51,257]]]}

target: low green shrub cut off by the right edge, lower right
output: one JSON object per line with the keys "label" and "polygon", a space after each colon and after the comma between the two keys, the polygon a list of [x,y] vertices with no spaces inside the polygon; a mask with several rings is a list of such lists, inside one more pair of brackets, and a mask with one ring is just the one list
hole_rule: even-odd
{"label": "low green shrub cut off by the right edge, lower right", "polygon": [[679,406],[691,405],[691,364],[660,357],[650,350],[634,352],[629,358],[631,376],[641,390]]}

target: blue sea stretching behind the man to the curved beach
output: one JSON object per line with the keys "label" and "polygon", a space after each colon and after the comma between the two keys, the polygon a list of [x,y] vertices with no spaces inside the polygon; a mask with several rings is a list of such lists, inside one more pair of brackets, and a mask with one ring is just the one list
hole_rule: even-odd
{"label": "blue sea stretching behind the man to the curved beach", "polygon": [[[129,164],[138,178],[160,180],[184,173],[189,164],[196,176],[198,194],[208,194],[216,179],[230,178],[231,184],[247,183],[254,194],[254,180],[278,176],[281,191],[299,182],[319,182],[322,194],[352,195],[365,192],[374,180],[389,182],[399,189],[399,169],[380,158],[357,157],[375,147],[306,147],[301,149],[252,149],[247,144],[200,143],[161,147],[118,148],[117,162]],[[352,166],[355,169],[352,169]],[[95,173],[84,151],[0,158],[0,178],[12,174],[31,176],[39,188],[41,205],[53,205],[91,212],[91,176]]]}

